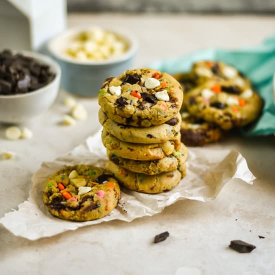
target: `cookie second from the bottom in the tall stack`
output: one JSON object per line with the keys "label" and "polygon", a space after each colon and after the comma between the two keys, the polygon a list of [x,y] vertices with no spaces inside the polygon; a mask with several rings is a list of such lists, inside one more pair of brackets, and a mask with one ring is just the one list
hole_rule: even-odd
{"label": "cookie second from the bottom in the tall stack", "polygon": [[157,160],[131,160],[119,157],[107,150],[109,160],[122,168],[132,172],[143,174],[159,174],[176,170],[179,165],[187,159],[188,151],[184,144],[181,143],[179,151],[174,151],[171,155]]}

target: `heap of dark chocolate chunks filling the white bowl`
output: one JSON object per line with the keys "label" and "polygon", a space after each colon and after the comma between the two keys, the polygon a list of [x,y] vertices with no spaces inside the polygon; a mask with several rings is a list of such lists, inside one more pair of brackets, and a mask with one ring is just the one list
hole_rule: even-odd
{"label": "heap of dark chocolate chunks filling the white bowl", "polygon": [[48,65],[32,57],[0,51],[0,95],[26,93],[48,84],[55,77]]}

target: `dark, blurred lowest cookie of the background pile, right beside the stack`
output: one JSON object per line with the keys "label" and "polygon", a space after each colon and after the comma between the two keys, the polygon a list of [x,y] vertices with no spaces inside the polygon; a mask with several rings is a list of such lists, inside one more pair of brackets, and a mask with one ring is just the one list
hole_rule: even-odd
{"label": "dark, blurred lowest cookie of the background pile, right beside the stack", "polygon": [[214,123],[196,118],[188,112],[181,112],[181,141],[187,146],[201,146],[216,142],[222,137],[222,130]]}

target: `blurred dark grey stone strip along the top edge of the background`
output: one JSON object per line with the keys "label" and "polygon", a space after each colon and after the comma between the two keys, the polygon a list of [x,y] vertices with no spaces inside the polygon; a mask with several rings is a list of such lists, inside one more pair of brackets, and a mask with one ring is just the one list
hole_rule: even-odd
{"label": "blurred dark grey stone strip along the top edge of the background", "polygon": [[69,11],[275,12],[274,0],[67,0]]}

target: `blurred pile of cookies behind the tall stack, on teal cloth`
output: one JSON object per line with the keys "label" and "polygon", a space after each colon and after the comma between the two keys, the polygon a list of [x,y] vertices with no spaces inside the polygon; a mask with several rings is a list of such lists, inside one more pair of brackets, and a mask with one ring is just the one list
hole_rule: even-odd
{"label": "blurred pile of cookies behind the tall stack, on teal cloth", "polygon": [[190,71],[173,75],[184,88],[181,140],[203,145],[225,131],[258,118],[262,100],[236,68],[218,61],[197,61]]}

